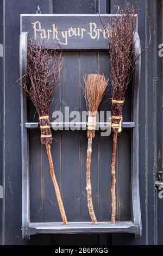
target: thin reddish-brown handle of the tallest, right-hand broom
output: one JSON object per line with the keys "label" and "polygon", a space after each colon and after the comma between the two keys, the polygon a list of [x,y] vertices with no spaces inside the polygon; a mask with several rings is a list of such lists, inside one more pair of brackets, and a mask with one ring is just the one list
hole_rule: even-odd
{"label": "thin reddish-brown handle of the tallest, right-hand broom", "polygon": [[115,223],[116,216],[116,174],[115,174],[115,162],[116,162],[116,151],[117,151],[117,132],[113,135],[113,148],[111,158],[111,223]]}

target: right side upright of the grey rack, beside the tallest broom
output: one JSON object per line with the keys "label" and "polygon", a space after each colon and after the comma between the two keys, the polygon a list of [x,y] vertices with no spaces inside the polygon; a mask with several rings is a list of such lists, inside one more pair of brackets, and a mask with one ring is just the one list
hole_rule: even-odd
{"label": "right side upright of the grey rack, beside the tallest broom", "polygon": [[133,121],[136,126],[133,131],[133,138],[131,140],[131,219],[139,226],[139,231],[135,235],[136,238],[140,238],[142,232],[141,224],[141,209],[140,209],[140,192],[139,192],[139,89],[140,89],[140,75],[141,75],[141,45],[139,34],[135,33],[135,52],[136,56],[136,68],[134,77],[133,88]]}

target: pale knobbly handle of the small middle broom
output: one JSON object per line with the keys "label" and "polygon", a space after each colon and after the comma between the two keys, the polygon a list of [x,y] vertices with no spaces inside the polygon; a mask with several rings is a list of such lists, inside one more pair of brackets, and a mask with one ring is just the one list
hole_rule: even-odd
{"label": "pale knobbly handle of the small middle broom", "polygon": [[87,160],[86,160],[86,191],[87,191],[87,206],[93,224],[97,224],[95,212],[92,203],[92,188],[91,188],[91,154],[92,154],[92,136],[87,142]]}

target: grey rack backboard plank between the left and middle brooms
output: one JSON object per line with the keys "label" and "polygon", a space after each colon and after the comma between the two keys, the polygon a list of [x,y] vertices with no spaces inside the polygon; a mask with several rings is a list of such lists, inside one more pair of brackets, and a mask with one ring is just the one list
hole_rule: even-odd
{"label": "grey rack backboard plank between the left and middle brooms", "polygon": [[[65,52],[61,71],[61,109],[79,110],[79,53]],[[62,131],[62,197],[68,221],[80,221],[79,131]]]}

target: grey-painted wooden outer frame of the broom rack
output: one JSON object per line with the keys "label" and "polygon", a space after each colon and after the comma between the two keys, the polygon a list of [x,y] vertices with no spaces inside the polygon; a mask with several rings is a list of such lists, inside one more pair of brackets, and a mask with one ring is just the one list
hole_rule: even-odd
{"label": "grey-painted wooden outer frame of the broom rack", "polygon": [[[27,42],[28,34],[31,36],[31,31],[27,24],[28,19],[43,19],[43,17],[93,17],[99,19],[98,15],[21,15],[21,37],[20,37],[20,76],[21,83],[26,80],[27,74]],[[103,17],[111,17],[112,15],[102,15]],[[25,20],[25,22],[24,22]],[[99,21],[100,22],[100,21]],[[27,29],[27,31],[26,31]],[[133,90],[133,120],[132,123],[123,123],[123,126],[134,128],[132,132],[132,166],[131,166],[131,220],[129,222],[99,222],[98,225],[92,225],[91,222],[71,222],[64,226],[62,223],[32,223],[30,222],[30,207],[29,207],[29,156],[28,156],[28,131],[27,128],[36,128],[38,124],[27,123],[27,106],[26,93],[21,89],[21,132],[22,132],[22,233],[24,239],[29,239],[32,234],[55,234],[55,233],[133,233],[136,238],[141,236],[141,212],[140,212],[140,197],[139,197],[139,81],[140,81],[140,39],[139,34],[135,33],[135,48],[137,54],[136,70],[134,78]],[[102,46],[103,44],[105,46]],[[106,49],[105,41],[96,44],[95,48]],[[70,47],[71,50],[76,50]],[[70,48],[68,48],[70,50]],[[78,46],[79,49],[79,46]],[[80,46],[82,50],[88,50]],[[89,48],[90,49],[90,48]],[[75,132],[75,131],[74,131]]]}

